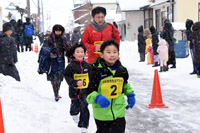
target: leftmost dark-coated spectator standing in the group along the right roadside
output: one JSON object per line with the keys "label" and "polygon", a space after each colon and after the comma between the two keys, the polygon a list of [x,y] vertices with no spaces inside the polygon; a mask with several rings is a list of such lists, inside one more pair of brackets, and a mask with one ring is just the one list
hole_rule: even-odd
{"label": "leftmost dark-coated spectator standing in the group along the right roadside", "polygon": [[143,34],[144,34],[144,30],[143,30],[143,26],[141,25],[138,28],[138,52],[140,53],[139,62],[145,61],[146,37]]}

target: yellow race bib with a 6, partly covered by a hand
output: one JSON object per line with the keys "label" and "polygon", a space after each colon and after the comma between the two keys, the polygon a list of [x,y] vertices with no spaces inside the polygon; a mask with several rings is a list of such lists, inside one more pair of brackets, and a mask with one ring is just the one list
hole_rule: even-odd
{"label": "yellow race bib with a 6, partly covered by a hand", "polygon": [[88,73],[74,74],[74,80],[82,80],[83,81],[83,85],[75,87],[76,89],[85,89],[85,88],[88,88],[88,84],[89,84]]}

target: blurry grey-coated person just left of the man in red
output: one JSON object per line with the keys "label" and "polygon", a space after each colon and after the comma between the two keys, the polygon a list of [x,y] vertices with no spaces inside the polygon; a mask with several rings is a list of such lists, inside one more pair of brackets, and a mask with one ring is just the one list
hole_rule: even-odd
{"label": "blurry grey-coated person just left of the man in red", "polygon": [[71,44],[73,45],[75,43],[79,43],[80,39],[81,39],[80,25],[79,24],[75,24],[74,31],[72,33]]}

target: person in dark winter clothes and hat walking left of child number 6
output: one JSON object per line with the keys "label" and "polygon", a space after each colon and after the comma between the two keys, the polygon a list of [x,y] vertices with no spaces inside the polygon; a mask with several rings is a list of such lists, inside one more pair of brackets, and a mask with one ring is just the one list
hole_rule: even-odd
{"label": "person in dark winter clothes and hat walking left of child number 6", "polygon": [[[51,47],[52,50],[50,54],[50,72],[47,73],[47,80],[51,81],[55,101],[58,101],[61,97],[59,96],[59,89],[61,82],[63,81],[63,71],[65,68],[65,58],[64,55],[68,51],[69,42],[66,41],[64,37],[65,29],[61,25],[54,25],[52,33],[43,46]],[[57,66],[58,65],[58,66]]]}

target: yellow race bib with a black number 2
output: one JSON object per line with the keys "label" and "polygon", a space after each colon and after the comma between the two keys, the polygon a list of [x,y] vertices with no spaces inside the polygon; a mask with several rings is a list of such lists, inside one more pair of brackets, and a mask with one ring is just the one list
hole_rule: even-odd
{"label": "yellow race bib with a black number 2", "polygon": [[101,94],[106,98],[117,98],[122,93],[124,79],[121,77],[101,80]]}

